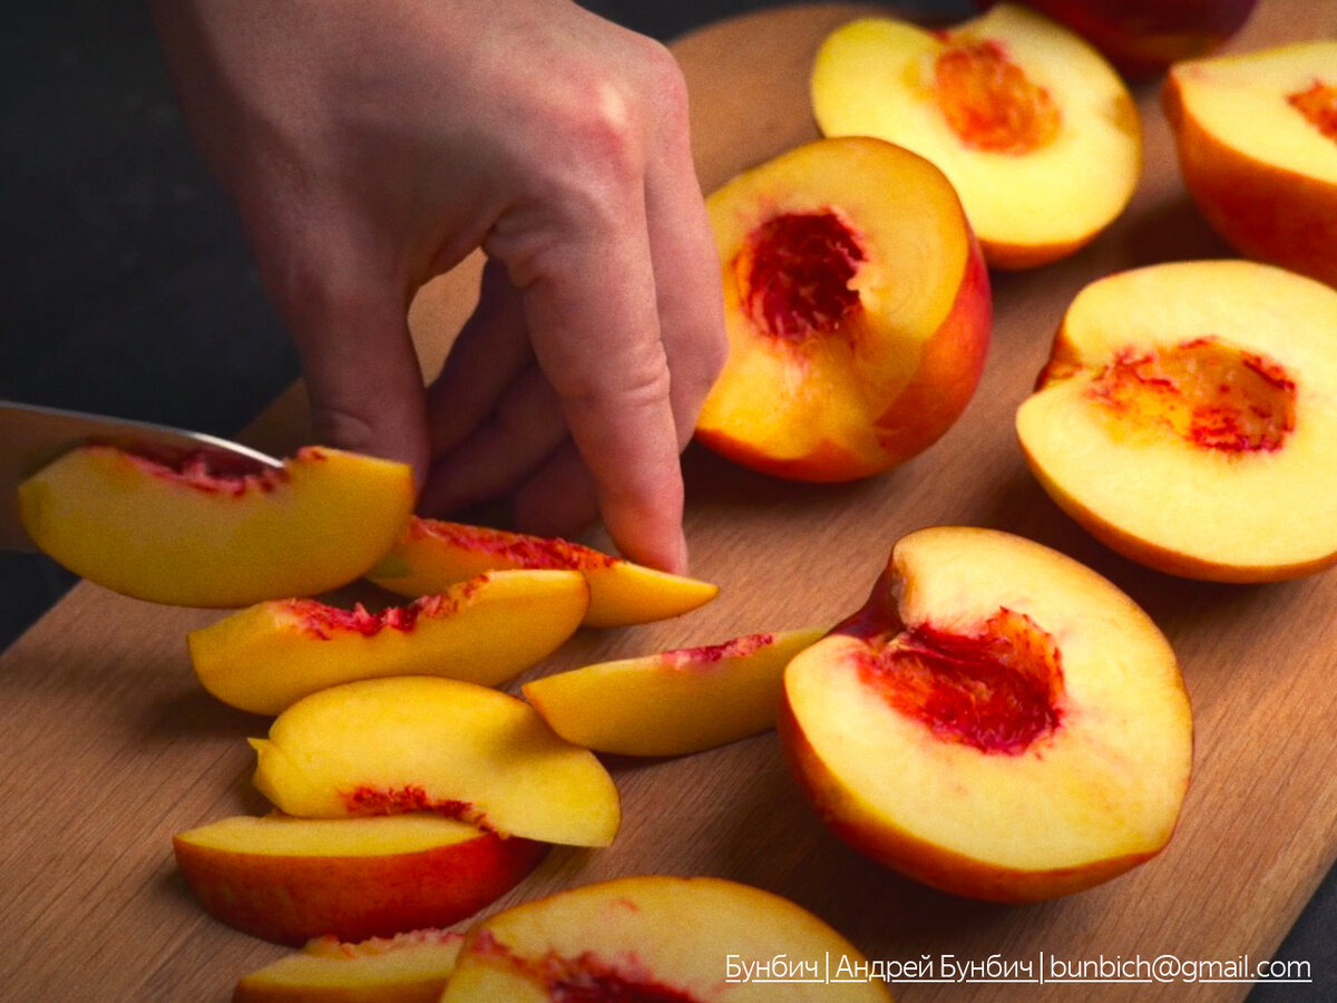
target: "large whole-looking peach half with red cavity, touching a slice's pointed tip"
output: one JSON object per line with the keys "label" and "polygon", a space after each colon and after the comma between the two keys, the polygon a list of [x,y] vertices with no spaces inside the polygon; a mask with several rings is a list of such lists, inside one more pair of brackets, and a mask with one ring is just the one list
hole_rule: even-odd
{"label": "large whole-looking peach half with red cavity, touching a slice's pointed tip", "polygon": [[992,530],[902,538],[785,671],[789,764],[832,830],[935,888],[1076,892],[1158,853],[1189,785],[1174,653],[1110,582]]}

